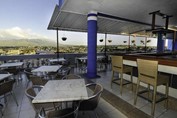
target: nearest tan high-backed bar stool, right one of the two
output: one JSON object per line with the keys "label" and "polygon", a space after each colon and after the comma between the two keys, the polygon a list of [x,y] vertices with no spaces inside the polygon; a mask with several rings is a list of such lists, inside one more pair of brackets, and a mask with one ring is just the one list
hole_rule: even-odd
{"label": "nearest tan high-backed bar stool, right one of the two", "polygon": [[[168,107],[169,77],[166,75],[158,74],[158,61],[137,59],[137,65],[138,80],[134,105],[136,105],[137,96],[145,98],[146,100],[152,103],[151,115],[154,116],[155,103],[166,100],[166,107]],[[148,84],[148,89],[139,91],[140,82]],[[163,97],[160,97],[157,100],[157,86],[163,84],[166,85],[165,95],[163,95]],[[152,86],[154,89],[151,99],[149,98],[150,86]],[[143,96],[143,93],[145,92],[148,92],[148,96]]]}

